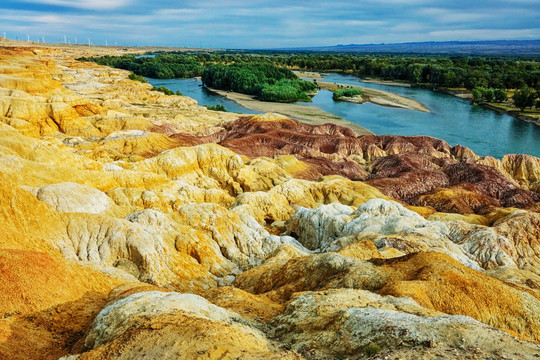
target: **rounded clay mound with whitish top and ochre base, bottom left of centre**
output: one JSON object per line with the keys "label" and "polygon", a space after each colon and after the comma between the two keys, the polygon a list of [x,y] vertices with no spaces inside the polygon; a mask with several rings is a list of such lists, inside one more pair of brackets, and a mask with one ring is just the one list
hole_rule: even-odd
{"label": "rounded clay mound with whitish top and ochre base, bottom left of centre", "polygon": [[107,306],[78,359],[300,359],[242,324],[239,315],[192,294],[147,291]]}

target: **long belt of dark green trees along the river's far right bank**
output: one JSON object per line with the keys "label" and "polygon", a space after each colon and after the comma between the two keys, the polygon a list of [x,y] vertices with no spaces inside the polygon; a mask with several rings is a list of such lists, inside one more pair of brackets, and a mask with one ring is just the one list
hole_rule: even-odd
{"label": "long belt of dark green trees along the river's far right bank", "polygon": [[401,80],[435,87],[516,89],[540,87],[540,59],[387,54],[274,54],[277,65],[345,71],[359,77]]}

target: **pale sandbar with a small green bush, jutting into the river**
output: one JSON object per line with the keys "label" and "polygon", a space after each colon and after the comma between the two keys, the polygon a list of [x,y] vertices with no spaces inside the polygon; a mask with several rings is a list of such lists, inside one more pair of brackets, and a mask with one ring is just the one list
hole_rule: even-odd
{"label": "pale sandbar with a small green bush, jutting into the river", "polygon": [[[334,91],[336,89],[344,88],[344,87],[352,87],[355,89],[360,89],[362,90],[363,102],[367,101],[375,105],[397,107],[397,108],[416,110],[416,111],[422,111],[422,112],[430,112],[428,108],[426,108],[423,104],[421,104],[420,102],[416,100],[409,99],[407,97],[397,95],[397,94],[387,92],[387,91],[375,90],[375,89],[365,88],[361,86],[330,83],[330,82],[324,82],[324,81],[318,81],[317,84],[319,85],[321,89],[326,89],[330,91]],[[347,99],[344,99],[344,100],[347,101]],[[354,102],[362,103],[356,98]]]}

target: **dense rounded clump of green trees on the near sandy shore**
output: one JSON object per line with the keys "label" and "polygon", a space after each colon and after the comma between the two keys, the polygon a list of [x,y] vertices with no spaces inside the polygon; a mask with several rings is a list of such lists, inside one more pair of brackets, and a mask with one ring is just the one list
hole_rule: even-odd
{"label": "dense rounded clump of green trees on the near sandy shore", "polygon": [[291,70],[270,63],[211,65],[204,69],[201,79],[209,87],[273,102],[309,101],[306,92],[317,90],[313,82],[300,80]]}

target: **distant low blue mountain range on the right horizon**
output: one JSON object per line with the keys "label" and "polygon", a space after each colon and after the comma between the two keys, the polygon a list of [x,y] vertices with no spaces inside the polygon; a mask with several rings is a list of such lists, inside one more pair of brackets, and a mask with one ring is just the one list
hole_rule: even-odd
{"label": "distant low blue mountain range on the right horizon", "polygon": [[441,41],[394,44],[349,44],[276,50],[350,53],[417,53],[455,55],[540,55],[540,40]]}

